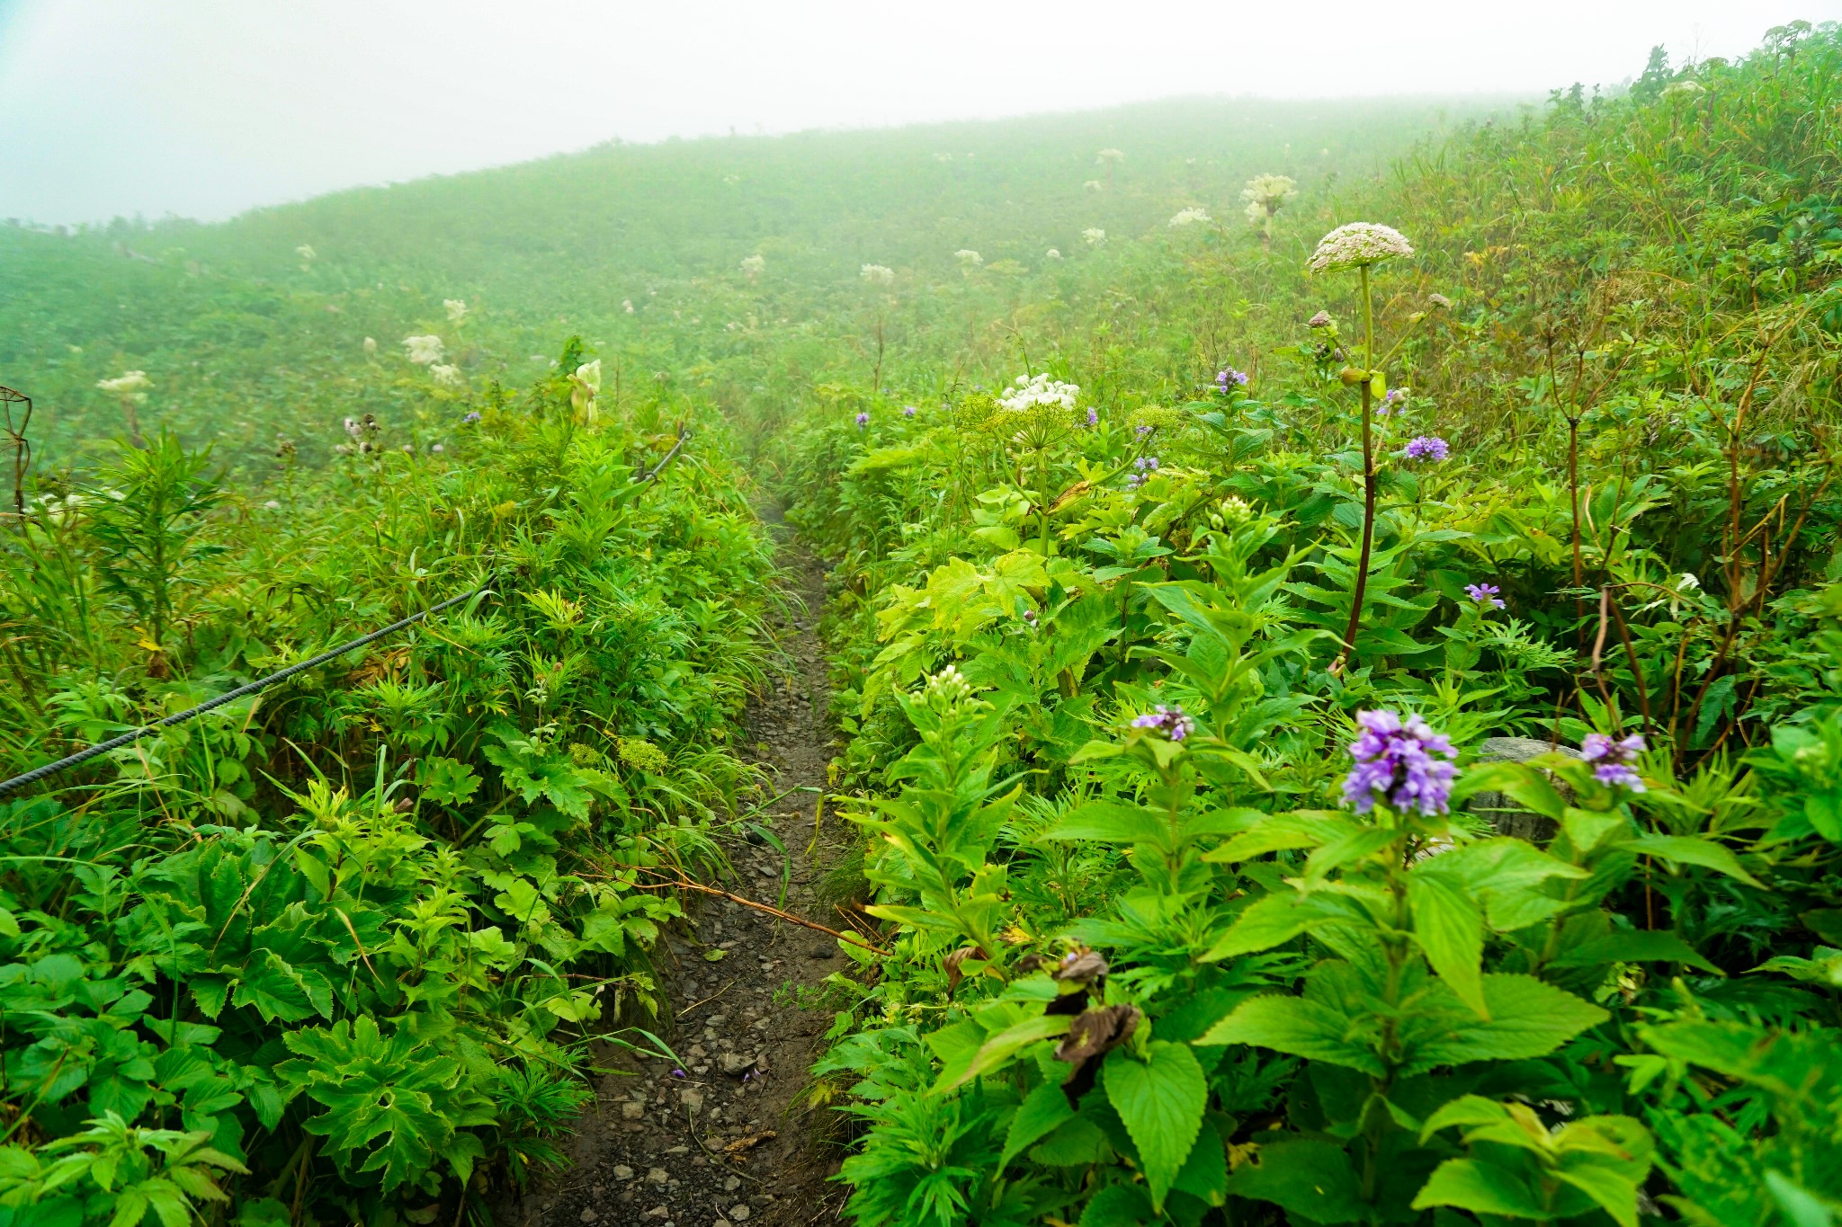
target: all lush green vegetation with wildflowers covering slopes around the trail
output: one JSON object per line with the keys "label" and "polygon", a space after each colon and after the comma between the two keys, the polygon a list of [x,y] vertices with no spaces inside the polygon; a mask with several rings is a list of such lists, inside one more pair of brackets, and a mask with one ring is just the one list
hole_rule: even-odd
{"label": "all lush green vegetation with wildflowers covering slopes around the trail", "polygon": [[1400,127],[0,232],[7,763],[488,589],[0,808],[0,1227],[554,1157],[748,806],[744,458],[836,561],[857,1221],[1836,1221],[1842,31]]}

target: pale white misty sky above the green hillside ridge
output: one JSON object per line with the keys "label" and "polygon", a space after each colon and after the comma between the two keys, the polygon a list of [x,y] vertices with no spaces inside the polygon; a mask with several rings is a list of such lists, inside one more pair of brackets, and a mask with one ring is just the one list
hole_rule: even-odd
{"label": "pale white misty sky above the green hillside ridge", "polygon": [[0,217],[227,217],[610,138],[1531,94],[1842,0],[0,0]]}

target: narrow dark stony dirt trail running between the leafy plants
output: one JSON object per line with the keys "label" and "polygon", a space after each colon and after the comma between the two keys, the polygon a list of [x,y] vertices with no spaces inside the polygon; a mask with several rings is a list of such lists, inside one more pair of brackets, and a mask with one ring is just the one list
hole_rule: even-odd
{"label": "narrow dark stony dirt trail running between the leafy plants", "polygon": [[[818,635],[825,574],[777,511],[768,519],[798,600],[775,625],[792,673],[750,705],[768,797],[787,795],[755,820],[772,822],[792,861],[785,911],[842,927],[822,914],[818,857],[809,855],[833,756]],[[833,833],[829,819],[823,833]],[[766,841],[726,850],[737,881],[722,885],[775,903],[781,854]],[[599,1050],[597,1063],[615,1072],[599,1080],[597,1104],[578,1120],[571,1166],[540,1181],[508,1216],[521,1227],[805,1227],[838,1218],[845,1192],[825,1181],[838,1155],[818,1139],[827,1113],[809,1113],[801,1098],[831,1014],[801,1008],[798,986],[818,984],[847,960],[834,938],[739,903],[693,896],[687,912],[656,951],[670,999],[661,1034],[683,1069]]]}

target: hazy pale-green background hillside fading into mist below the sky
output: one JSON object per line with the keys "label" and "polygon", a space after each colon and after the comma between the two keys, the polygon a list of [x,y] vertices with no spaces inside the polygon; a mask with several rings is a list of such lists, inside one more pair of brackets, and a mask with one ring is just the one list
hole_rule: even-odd
{"label": "hazy pale-green background hillside fading into mist below the sky", "polygon": [[[892,377],[954,351],[982,366],[1002,350],[987,329],[1019,309],[1105,292],[1107,252],[1083,230],[1118,247],[1188,204],[1236,223],[1242,184],[1269,171],[1323,199],[1477,109],[1179,101],[610,145],[217,226],[7,228],[0,383],[48,408],[41,454],[52,462],[122,429],[94,384],[123,370],[149,373],[146,416],[188,440],[216,436],[245,458],[286,432],[319,458],[350,412],[427,408],[427,379],[405,383],[411,372],[389,361],[402,337],[442,333],[481,386],[529,381],[573,331],[626,386],[663,370],[731,412],[775,418],[814,383],[869,375],[879,315]],[[1046,258],[1052,247],[1063,261]],[[962,248],[980,252],[978,281],[962,276]],[[755,276],[742,270],[750,256],[764,261]],[[895,270],[888,292],[862,281],[866,263]],[[449,298],[468,304],[464,327],[448,327]],[[374,362],[365,337],[381,346]]]}

